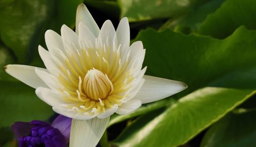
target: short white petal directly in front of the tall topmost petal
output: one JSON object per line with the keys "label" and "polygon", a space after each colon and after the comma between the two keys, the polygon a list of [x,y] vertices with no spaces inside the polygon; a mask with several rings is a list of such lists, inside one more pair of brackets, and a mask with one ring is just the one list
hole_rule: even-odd
{"label": "short white petal directly in front of the tall topmost petal", "polygon": [[89,42],[95,43],[96,38],[86,25],[80,22],[78,27],[79,27],[79,39],[81,41],[87,41],[87,43]]}

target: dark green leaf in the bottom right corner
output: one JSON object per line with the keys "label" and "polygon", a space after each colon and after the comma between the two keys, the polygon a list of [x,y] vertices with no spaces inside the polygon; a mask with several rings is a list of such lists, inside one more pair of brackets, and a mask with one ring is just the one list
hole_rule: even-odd
{"label": "dark green leaf in the bottom right corner", "polygon": [[256,111],[230,113],[206,132],[201,147],[256,146]]}

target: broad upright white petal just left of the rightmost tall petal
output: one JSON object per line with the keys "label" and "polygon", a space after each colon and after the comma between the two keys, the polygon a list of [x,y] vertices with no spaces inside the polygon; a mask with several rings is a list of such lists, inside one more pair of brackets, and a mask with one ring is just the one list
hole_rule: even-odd
{"label": "broad upright white petal just left of the rightmost tall petal", "polygon": [[98,36],[98,44],[105,44],[106,46],[117,48],[117,38],[115,28],[110,20],[106,20],[100,29]]}

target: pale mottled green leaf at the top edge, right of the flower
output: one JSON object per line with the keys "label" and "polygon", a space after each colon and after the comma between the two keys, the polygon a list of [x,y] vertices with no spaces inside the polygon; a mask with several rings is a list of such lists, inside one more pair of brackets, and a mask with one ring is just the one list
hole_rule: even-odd
{"label": "pale mottled green leaf at the top edge, right of the flower", "polygon": [[130,22],[168,18],[190,12],[196,2],[186,0],[119,0],[121,18],[128,17]]}

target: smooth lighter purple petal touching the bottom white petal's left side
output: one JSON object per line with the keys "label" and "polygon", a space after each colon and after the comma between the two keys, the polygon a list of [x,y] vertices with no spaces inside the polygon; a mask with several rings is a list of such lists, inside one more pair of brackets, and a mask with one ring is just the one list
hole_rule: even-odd
{"label": "smooth lighter purple petal touching the bottom white petal's left side", "polygon": [[52,127],[59,129],[62,135],[66,137],[67,142],[69,142],[71,122],[71,118],[58,115],[58,117],[52,123]]}

